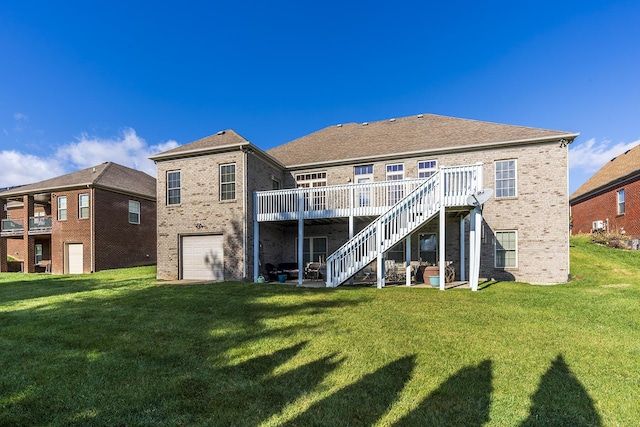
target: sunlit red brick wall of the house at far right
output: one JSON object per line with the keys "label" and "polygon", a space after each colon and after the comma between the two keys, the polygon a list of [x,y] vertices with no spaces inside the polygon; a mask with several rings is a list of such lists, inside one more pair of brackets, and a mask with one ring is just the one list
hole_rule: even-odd
{"label": "sunlit red brick wall of the house at far right", "polygon": [[[625,212],[618,215],[617,192],[625,191]],[[571,206],[572,234],[590,233],[594,221],[603,221],[606,231],[640,237],[640,176],[597,193]]]}

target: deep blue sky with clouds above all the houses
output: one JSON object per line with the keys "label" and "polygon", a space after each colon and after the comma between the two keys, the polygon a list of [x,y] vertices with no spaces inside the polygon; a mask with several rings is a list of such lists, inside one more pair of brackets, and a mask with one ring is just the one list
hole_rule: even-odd
{"label": "deep blue sky with clouds above all the houses", "polygon": [[640,143],[637,0],[5,3],[0,187],[418,113],[579,132],[571,192]]}

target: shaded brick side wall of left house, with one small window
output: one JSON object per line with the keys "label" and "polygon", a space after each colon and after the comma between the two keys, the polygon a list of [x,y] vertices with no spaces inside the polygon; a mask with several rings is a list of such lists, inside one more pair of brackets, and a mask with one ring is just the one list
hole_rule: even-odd
{"label": "shaded brick side wall of left house, with one small window", "polygon": [[[156,202],[94,190],[95,271],[156,263]],[[140,224],[129,222],[129,201],[140,203]]]}

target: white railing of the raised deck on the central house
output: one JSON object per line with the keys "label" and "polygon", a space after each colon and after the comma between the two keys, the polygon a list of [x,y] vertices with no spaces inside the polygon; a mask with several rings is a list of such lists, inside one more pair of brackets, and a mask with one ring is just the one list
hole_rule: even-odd
{"label": "white railing of the raised deck on the central house", "polygon": [[467,197],[482,188],[482,164],[443,167],[424,179],[257,191],[256,219],[263,222],[379,216],[426,182],[444,185],[445,206],[466,206]]}

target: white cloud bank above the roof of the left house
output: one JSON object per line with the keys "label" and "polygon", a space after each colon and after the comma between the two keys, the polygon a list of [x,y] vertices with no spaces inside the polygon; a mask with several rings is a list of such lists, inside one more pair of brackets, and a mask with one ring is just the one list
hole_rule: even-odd
{"label": "white cloud bank above the roof of the left house", "polygon": [[149,156],[177,147],[176,141],[147,145],[132,128],[118,136],[100,138],[81,135],[77,141],[58,147],[52,157],[17,151],[0,151],[0,187],[30,184],[104,162],[114,162],[156,176]]}

